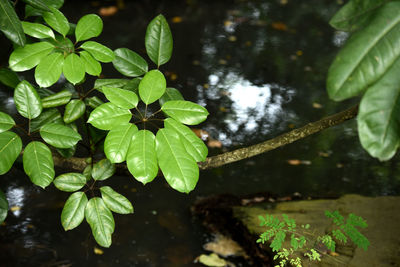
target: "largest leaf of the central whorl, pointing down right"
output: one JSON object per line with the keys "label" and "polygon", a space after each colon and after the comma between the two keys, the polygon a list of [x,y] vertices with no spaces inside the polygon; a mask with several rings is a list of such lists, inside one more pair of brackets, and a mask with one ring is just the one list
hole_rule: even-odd
{"label": "largest leaf of the central whorl, pointing down right", "polygon": [[160,129],[156,150],[158,165],[168,184],[182,193],[192,191],[199,179],[199,167],[186,152],[179,135],[170,129]]}

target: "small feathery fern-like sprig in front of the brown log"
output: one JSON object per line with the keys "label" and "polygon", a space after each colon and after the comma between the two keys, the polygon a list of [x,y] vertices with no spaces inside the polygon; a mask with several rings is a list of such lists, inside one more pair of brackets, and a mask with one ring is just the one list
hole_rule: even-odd
{"label": "small feathery fern-like sprig in front of the brown log", "polygon": [[[267,230],[260,235],[257,243],[270,243],[270,248],[276,252],[274,260],[279,262],[277,266],[286,264],[302,266],[302,258],[296,256],[295,253],[303,254],[310,261],[321,261],[322,252],[318,247],[323,245],[327,250],[335,252],[337,241],[345,244],[347,237],[356,246],[367,250],[368,239],[356,229],[356,227],[366,228],[368,226],[363,218],[349,214],[345,220],[339,211],[325,211],[325,215],[332,219],[338,229],[322,236],[315,236],[310,232],[309,224],[297,228],[296,221],[286,214],[282,214],[282,219],[269,214],[266,214],[265,217],[259,216],[260,226],[265,226]],[[289,241],[285,243],[287,239]]]}

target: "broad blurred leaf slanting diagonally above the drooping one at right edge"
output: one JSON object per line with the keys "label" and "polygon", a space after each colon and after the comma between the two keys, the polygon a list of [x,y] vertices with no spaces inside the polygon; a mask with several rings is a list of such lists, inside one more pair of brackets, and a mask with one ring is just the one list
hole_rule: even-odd
{"label": "broad blurred leaf slanting diagonally above the drooping one at right edge", "polygon": [[378,9],[367,27],[356,32],[329,68],[329,97],[340,101],[363,92],[400,56],[400,2]]}

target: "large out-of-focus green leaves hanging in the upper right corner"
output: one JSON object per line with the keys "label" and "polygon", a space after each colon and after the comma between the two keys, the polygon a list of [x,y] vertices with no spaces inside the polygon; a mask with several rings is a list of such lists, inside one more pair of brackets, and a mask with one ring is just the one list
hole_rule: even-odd
{"label": "large out-of-focus green leaves hanging in the upper right corner", "polygon": [[328,94],[337,101],[363,94],[357,120],[361,145],[388,160],[400,145],[400,2],[350,0],[330,23],[355,32],[330,66]]}

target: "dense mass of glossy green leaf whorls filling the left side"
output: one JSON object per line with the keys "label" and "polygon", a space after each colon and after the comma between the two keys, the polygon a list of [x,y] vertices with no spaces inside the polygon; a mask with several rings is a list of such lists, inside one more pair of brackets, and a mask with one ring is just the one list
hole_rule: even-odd
{"label": "dense mass of glossy green leaf whorls filling the left side", "polygon": [[[59,11],[62,0],[24,2],[25,18],[32,20],[19,20],[10,2],[0,0],[0,30],[14,43],[9,68],[0,69],[0,82],[14,89],[17,121],[26,119],[17,125],[0,112],[0,174],[8,172],[23,151],[23,168],[35,185],[46,188],[53,183],[71,193],[61,213],[64,229],[74,229],[86,219],[97,243],[109,247],[115,228],[112,212],[134,212],[126,197],[104,185],[114,175],[115,163],[126,161],[129,172],[143,184],[160,168],[173,189],[189,193],[199,178],[197,162],[204,161],[208,151],[185,124],[203,122],[208,112],[185,101],[177,89],[167,88],[159,68],[170,60],[173,44],[162,15],[146,31],[146,52],[157,66],[151,69],[128,48],[113,51],[92,40],[103,30],[99,16],[85,15],[75,25]],[[101,64],[111,62],[127,78],[85,82],[86,75],[99,77]],[[29,70],[36,84],[16,74]],[[57,83],[63,84],[61,89],[55,89]],[[102,142],[103,159],[95,161]],[[56,176],[53,153],[71,157],[77,145],[87,148],[88,166],[82,173]],[[93,192],[97,189],[99,193]],[[0,191],[0,222],[7,209]]]}

